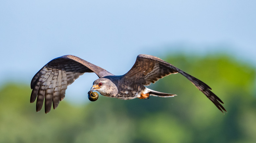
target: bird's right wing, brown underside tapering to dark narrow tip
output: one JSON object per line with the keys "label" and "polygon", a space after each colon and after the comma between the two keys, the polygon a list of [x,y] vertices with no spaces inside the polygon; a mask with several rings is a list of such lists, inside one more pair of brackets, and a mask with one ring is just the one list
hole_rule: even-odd
{"label": "bird's right wing, brown underside tapering to dark narrow tip", "polygon": [[226,111],[221,104],[223,103],[221,99],[218,96],[216,96],[213,92],[211,92],[211,87],[206,85],[201,80],[187,74],[186,72],[174,67],[170,63],[165,62],[162,59],[155,56],[137,56],[135,64],[133,65],[130,71],[123,75],[123,78],[129,78],[133,81],[137,81],[145,86],[148,86],[150,85],[150,83],[155,83],[164,76],[175,73],[181,73],[188,80],[190,80],[200,91],[202,91],[203,94],[205,94],[206,97],[209,98],[219,110]]}

